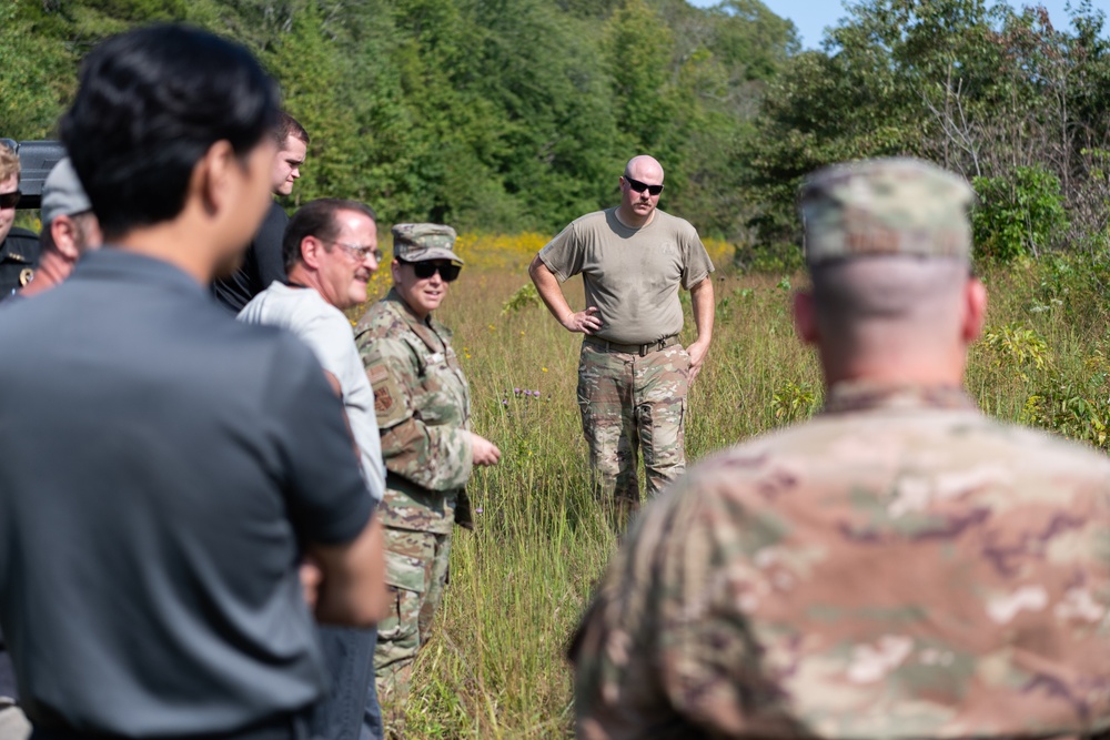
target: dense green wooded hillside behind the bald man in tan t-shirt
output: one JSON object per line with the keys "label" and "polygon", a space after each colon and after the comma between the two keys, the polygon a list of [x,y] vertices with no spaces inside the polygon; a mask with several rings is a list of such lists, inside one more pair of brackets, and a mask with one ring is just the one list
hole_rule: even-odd
{"label": "dense green wooded hillside behind the bald man in tan t-shirt", "polygon": [[382,223],[554,233],[612,205],[633,155],[667,170],[663,206],[706,236],[754,207],[736,156],[797,48],[757,0],[9,0],[0,135],[48,138],[80,58],[180,20],[251,48],[312,142],[285,203],[371,203]]}

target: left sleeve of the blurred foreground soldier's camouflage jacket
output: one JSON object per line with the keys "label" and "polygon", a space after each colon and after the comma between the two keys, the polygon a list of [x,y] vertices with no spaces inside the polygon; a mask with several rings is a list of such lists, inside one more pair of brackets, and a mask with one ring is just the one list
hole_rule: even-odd
{"label": "left sleeve of the blurred foreground soldier's camouflage jacket", "polygon": [[571,648],[578,737],[804,737],[760,679],[735,595],[714,582],[726,553],[703,525],[722,513],[687,488],[645,510],[583,618]]}

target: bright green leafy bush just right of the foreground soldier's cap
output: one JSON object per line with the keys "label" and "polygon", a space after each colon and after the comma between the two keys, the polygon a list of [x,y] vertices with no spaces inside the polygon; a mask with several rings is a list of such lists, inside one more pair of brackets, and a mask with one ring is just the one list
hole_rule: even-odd
{"label": "bright green leafy bush just right of the foreground soldier's cap", "polygon": [[977,255],[1010,262],[1037,255],[1068,230],[1060,179],[1039,166],[976,178],[979,204],[971,214]]}

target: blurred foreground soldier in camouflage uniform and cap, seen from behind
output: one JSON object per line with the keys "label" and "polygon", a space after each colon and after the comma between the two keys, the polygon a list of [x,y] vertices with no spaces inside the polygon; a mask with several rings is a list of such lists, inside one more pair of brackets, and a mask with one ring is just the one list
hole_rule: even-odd
{"label": "blurred foreground soldier in camouflage uniform and cap, seen from behind", "polygon": [[1110,462],[965,395],[971,197],[916,160],[808,179],[825,409],[642,514],[572,647],[581,738],[1110,728]]}

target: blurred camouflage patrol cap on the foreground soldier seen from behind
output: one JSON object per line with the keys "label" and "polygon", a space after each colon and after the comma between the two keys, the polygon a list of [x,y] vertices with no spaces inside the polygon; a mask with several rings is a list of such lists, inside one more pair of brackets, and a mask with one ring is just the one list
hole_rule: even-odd
{"label": "blurred camouflage patrol cap on the foreground soldier seen from behind", "polygon": [[864,255],[971,259],[967,181],[915,159],[819,170],[801,185],[806,262]]}

